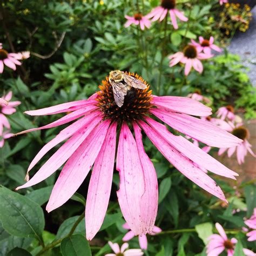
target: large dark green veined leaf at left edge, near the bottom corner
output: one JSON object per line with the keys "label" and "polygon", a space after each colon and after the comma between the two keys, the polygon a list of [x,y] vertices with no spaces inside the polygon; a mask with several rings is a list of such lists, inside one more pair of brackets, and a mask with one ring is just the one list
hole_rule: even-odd
{"label": "large dark green veined leaf at left edge, near the bottom corner", "polygon": [[0,220],[9,234],[41,240],[44,213],[38,204],[3,186],[0,187],[0,202]]}

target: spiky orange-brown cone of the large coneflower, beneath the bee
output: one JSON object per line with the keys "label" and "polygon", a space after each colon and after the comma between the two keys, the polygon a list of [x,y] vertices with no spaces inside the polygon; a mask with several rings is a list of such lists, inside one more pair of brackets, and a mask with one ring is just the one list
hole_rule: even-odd
{"label": "spiky orange-brown cone of the large coneflower, beneath the bee", "polygon": [[99,85],[100,91],[97,92],[98,97],[96,98],[99,102],[97,106],[104,113],[106,119],[110,118],[119,123],[131,123],[134,120],[143,119],[145,114],[150,113],[150,109],[153,106],[150,103],[152,100],[152,91],[149,91],[150,86],[137,74],[127,74],[141,80],[147,87],[145,90],[131,87],[124,98],[123,106],[119,107],[114,100],[113,89],[109,82],[109,77],[106,77],[106,80],[102,81],[102,85]]}

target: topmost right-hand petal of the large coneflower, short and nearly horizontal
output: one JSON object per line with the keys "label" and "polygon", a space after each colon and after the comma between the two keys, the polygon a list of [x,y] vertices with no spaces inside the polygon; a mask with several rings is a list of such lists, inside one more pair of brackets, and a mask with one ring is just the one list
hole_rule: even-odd
{"label": "topmost right-hand petal of the large coneflower, short and nearly horizontal", "polygon": [[211,107],[207,107],[197,100],[186,97],[154,97],[151,103],[160,108],[164,108],[173,112],[192,114],[193,116],[207,117],[212,114]]}

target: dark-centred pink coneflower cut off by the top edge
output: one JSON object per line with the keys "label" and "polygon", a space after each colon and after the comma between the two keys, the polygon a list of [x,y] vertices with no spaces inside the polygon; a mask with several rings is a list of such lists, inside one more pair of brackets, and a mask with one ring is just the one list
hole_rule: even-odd
{"label": "dark-centred pink coneflower cut off by the top edge", "polygon": [[161,5],[154,8],[148,15],[147,18],[152,18],[152,21],[163,21],[169,12],[171,22],[174,29],[178,29],[177,18],[180,21],[187,22],[188,18],[184,16],[183,12],[179,11],[176,7],[176,0],[161,0]]}

